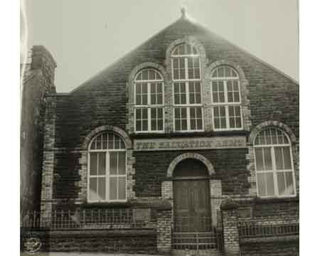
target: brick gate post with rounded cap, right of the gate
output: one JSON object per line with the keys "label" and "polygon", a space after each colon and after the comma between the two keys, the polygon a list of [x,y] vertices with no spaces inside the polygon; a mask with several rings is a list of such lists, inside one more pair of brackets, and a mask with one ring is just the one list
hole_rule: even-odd
{"label": "brick gate post with rounded cap, right of the gate", "polygon": [[223,219],[224,251],[227,256],[240,255],[238,233],[238,203],[232,199],[226,199],[221,203]]}

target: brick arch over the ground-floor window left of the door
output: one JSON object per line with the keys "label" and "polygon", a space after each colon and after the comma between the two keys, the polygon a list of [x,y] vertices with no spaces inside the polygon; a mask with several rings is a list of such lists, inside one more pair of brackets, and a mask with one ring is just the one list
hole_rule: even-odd
{"label": "brick arch over the ground-floor window left of the door", "polygon": [[87,137],[85,137],[85,141],[82,143],[82,148],[87,149],[93,137],[95,137],[95,135],[97,135],[100,132],[115,132],[119,135],[119,137],[121,137],[124,140],[126,148],[132,149],[132,142],[127,133],[124,132],[123,129],[120,129],[119,127],[114,127],[112,125],[102,125],[93,129],[89,134],[87,134]]}

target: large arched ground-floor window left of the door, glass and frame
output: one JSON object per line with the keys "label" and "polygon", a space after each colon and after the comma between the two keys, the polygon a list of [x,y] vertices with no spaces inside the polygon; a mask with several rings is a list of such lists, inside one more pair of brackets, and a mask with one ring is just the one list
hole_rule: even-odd
{"label": "large arched ground-floor window left of the door, glass and frame", "polygon": [[89,202],[126,201],[126,147],[113,132],[98,134],[89,145]]}

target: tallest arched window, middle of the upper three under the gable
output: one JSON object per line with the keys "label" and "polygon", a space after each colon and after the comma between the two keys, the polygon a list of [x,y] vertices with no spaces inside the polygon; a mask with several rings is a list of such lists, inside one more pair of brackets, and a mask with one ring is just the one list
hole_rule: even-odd
{"label": "tallest arched window, middle of the upper three under the gable", "polygon": [[171,53],[174,80],[174,129],[203,130],[200,55],[195,46],[182,43]]}

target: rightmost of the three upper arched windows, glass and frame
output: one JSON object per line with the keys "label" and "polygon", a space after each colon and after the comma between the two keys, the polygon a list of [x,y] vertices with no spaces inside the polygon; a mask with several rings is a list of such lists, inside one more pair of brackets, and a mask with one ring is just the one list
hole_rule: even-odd
{"label": "rightmost of the three upper arched windows, glass and frame", "polygon": [[221,65],[211,73],[213,129],[242,129],[239,75],[234,68]]}

